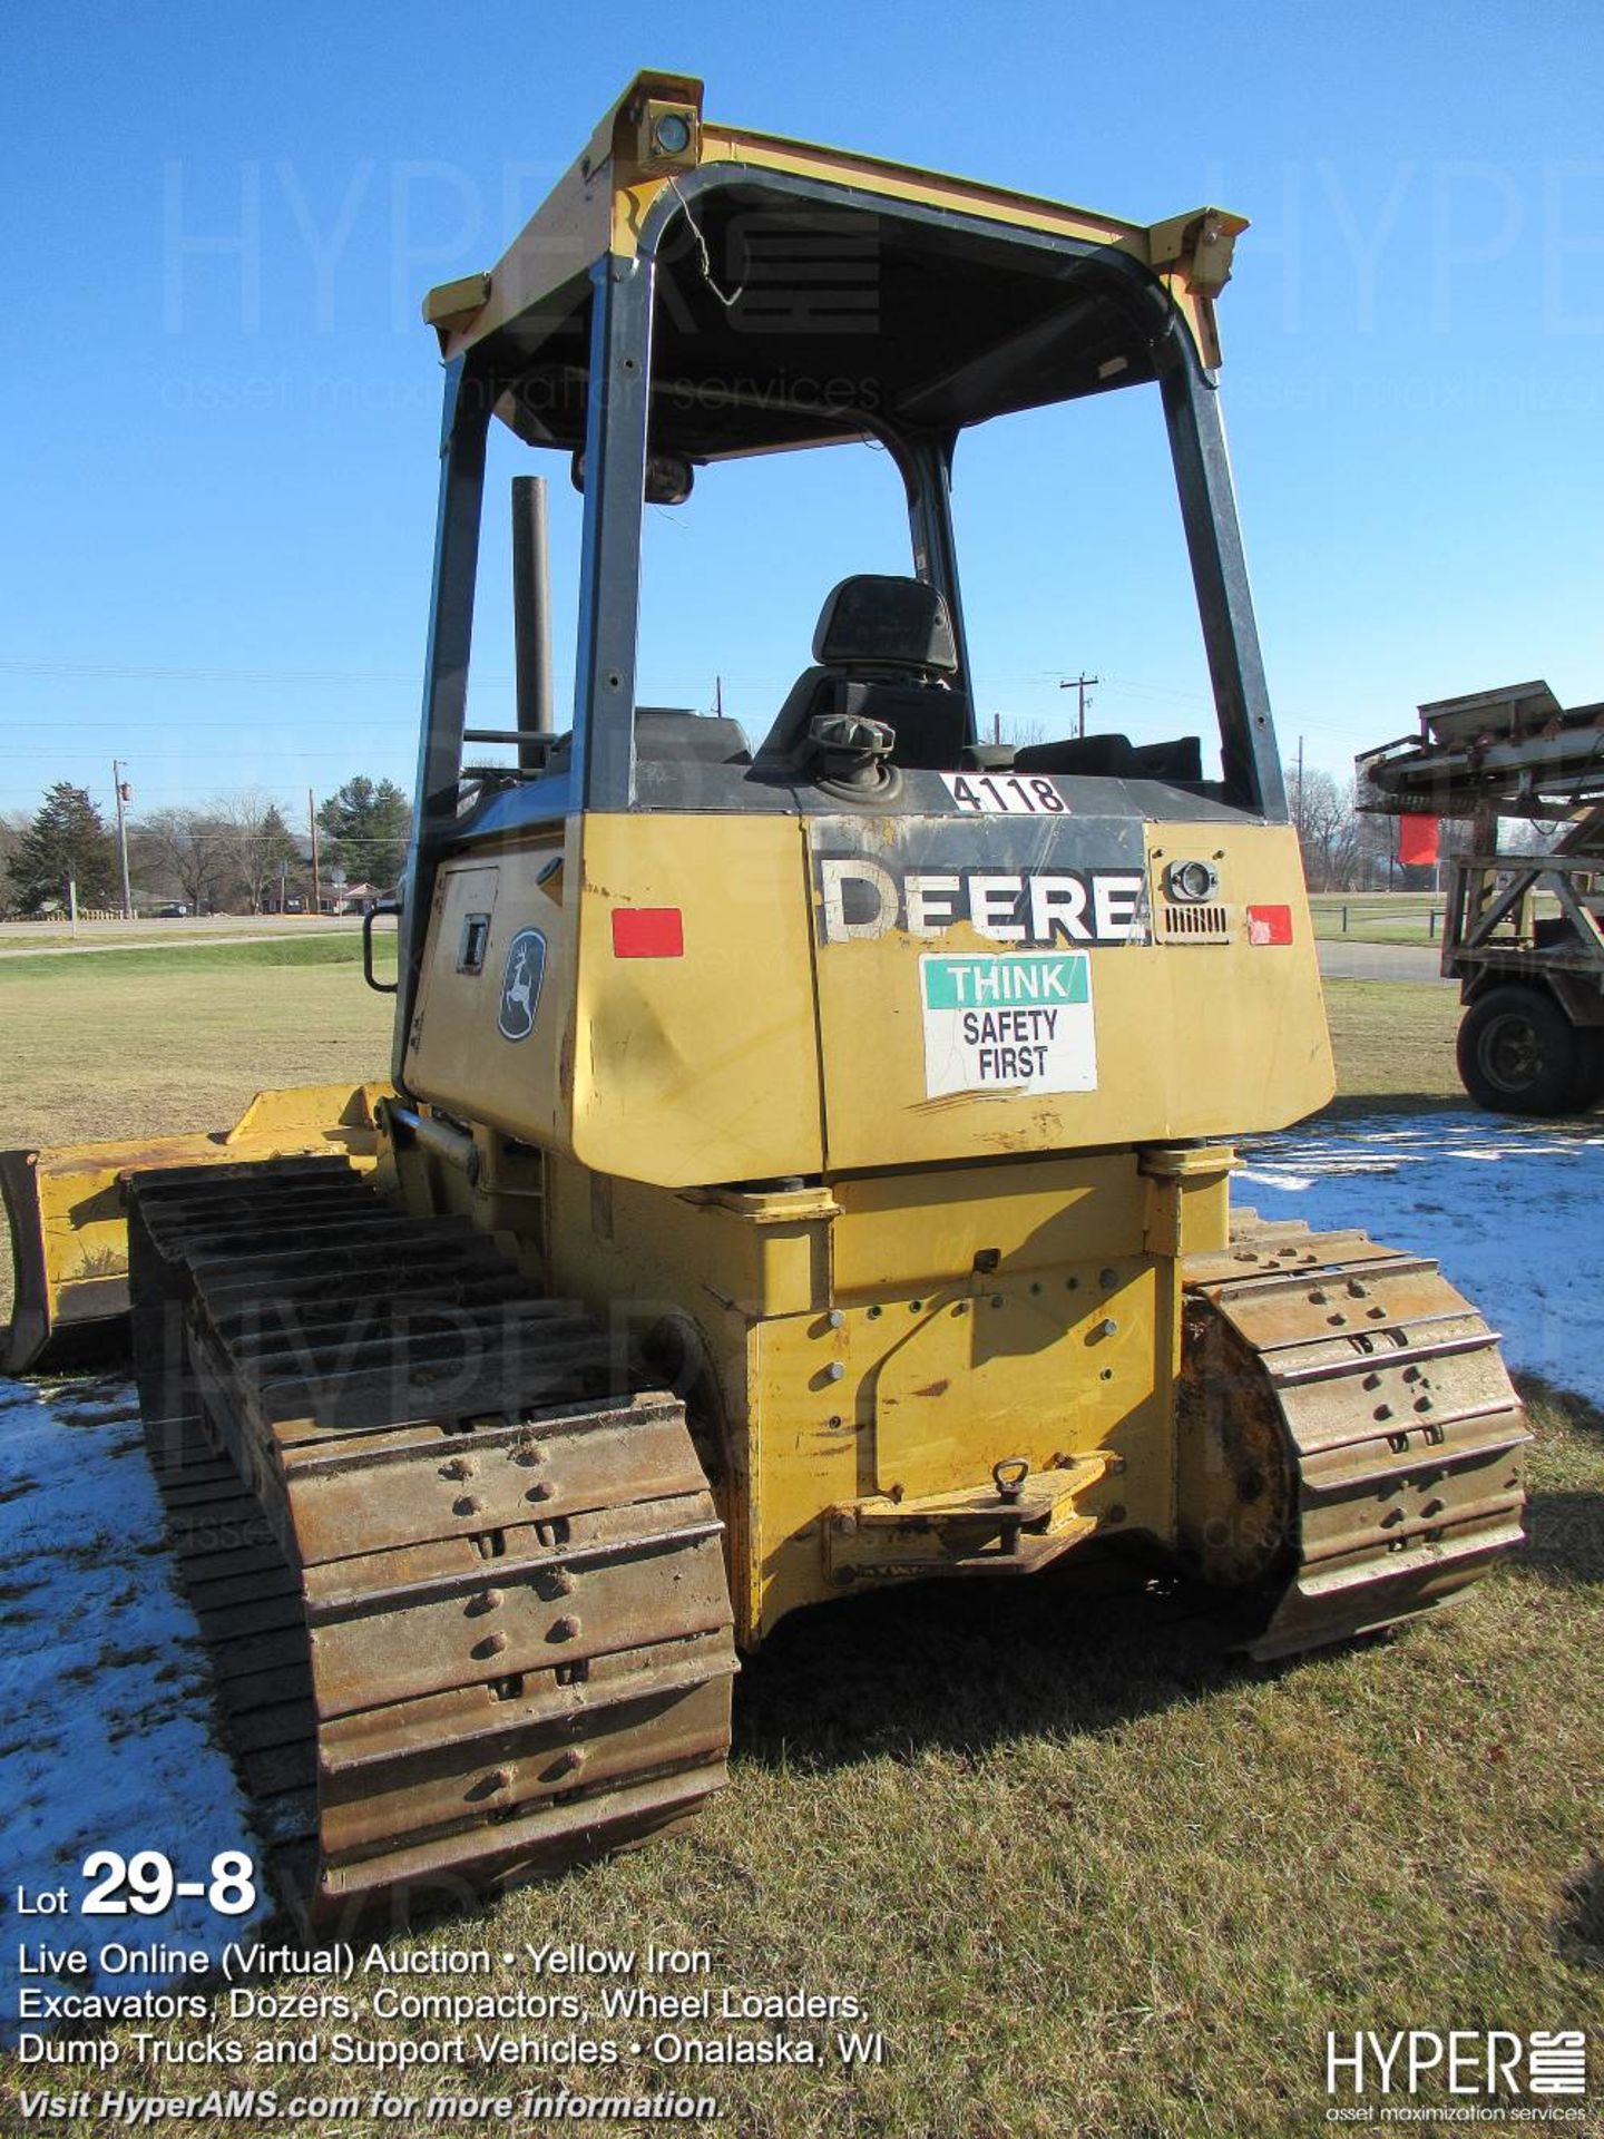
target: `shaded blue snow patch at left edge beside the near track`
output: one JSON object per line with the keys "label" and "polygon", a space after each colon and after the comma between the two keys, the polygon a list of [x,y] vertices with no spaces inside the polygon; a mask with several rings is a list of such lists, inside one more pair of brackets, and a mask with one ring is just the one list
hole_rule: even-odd
{"label": "shaded blue snow patch at left edge beside the near track", "polygon": [[[0,2041],[19,2026],[21,1946],[77,1946],[94,1979],[137,1991],[163,1972],[98,1968],[109,1944],[222,1953],[269,1914],[180,1899],[160,1917],[83,1917],[83,1859],[160,1850],[178,1878],[214,1855],[265,1852],[210,1730],[205,1649],[178,1594],[160,1499],[126,1382],[0,1382]],[[263,1878],[259,1872],[259,1889]],[[66,1887],[66,1914],[19,1914]],[[51,1979],[30,1983],[53,1989]]]}

